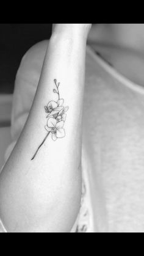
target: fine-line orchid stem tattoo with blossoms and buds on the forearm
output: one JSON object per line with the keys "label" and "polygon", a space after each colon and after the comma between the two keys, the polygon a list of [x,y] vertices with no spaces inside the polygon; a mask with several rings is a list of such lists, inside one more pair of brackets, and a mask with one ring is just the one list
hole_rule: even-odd
{"label": "fine-line orchid stem tattoo with blossoms and buds on the forearm", "polygon": [[32,156],[31,160],[35,158],[37,155],[38,150],[43,145],[43,143],[46,141],[46,138],[51,134],[52,140],[56,141],[58,138],[65,137],[65,130],[63,129],[63,125],[65,123],[65,119],[67,114],[65,114],[68,111],[68,106],[64,107],[63,98],[60,98],[59,93],[59,86],[60,82],[57,84],[57,79],[54,79],[54,83],[56,85],[56,89],[53,89],[54,93],[57,93],[58,100],[57,101],[49,101],[48,105],[45,106],[45,112],[48,114],[46,115],[47,123],[45,125],[45,130],[48,131],[45,138],[37,148],[37,151],[35,152],[34,156]]}

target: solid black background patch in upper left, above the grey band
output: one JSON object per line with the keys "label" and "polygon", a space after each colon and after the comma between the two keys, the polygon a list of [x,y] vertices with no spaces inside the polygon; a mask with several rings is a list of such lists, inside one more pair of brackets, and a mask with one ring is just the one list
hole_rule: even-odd
{"label": "solid black background patch in upper left, above the grey band", "polygon": [[0,24],[0,93],[12,93],[27,49],[51,36],[52,24]]}

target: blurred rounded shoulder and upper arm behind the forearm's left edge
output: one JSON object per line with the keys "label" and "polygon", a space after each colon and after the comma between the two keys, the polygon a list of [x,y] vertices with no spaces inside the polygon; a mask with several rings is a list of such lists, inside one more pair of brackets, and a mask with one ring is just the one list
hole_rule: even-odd
{"label": "blurred rounded shoulder and upper arm behind the forearm's left edge", "polygon": [[29,115],[47,47],[48,40],[32,46],[21,59],[16,73],[11,120],[11,134],[14,141],[20,136]]}

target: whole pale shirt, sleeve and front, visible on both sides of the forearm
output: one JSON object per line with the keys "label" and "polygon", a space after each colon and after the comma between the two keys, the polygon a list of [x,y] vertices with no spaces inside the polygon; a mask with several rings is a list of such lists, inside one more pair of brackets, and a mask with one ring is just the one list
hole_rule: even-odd
{"label": "whole pale shirt, sleeve and front, visible on both sides of the forearm", "polygon": [[[12,139],[20,136],[37,89],[46,41],[33,46],[16,75]],[[82,140],[82,205],[72,232],[144,231],[144,89],[87,46]]]}

